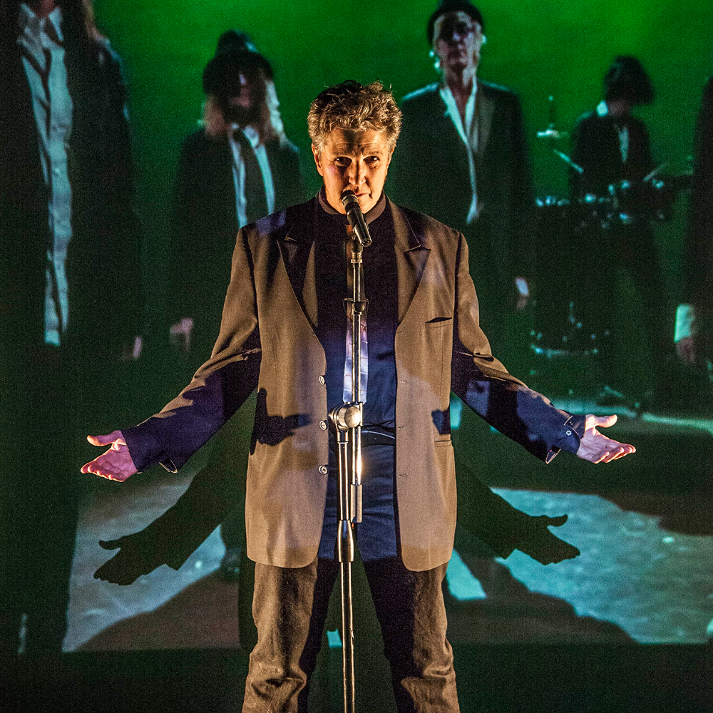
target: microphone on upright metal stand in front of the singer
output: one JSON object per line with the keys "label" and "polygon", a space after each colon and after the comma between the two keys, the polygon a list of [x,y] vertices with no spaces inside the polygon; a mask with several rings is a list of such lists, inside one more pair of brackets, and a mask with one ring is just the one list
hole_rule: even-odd
{"label": "microphone on upright metal stand in front of the singer", "polygon": [[344,713],[354,713],[354,607],[352,604],[352,562],[354,562],[355,524],[361,522],[361,425],[364,401],[361,391],[361,320],[368,300],[364,295],[364,268],[361,250],[371,245],[371,237],[361,214],[359,201],[351,190],[342,193],[342,203],[352,225],[352,400],[329,411],[329,420],[337,436],[339,522],[334,553],[339,560],[342,584],[342,671],[344,678]]}

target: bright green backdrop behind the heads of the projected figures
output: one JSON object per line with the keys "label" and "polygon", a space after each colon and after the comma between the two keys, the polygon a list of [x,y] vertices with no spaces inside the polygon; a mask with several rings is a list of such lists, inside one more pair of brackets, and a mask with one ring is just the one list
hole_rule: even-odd
{"label": "bright green backdrop behind the heads of the projected figures", "polygon": [[[145,281],[150,322],[165,299],[166,225],[180,143],[200,116],[200,77],[229,28],[249,32],[272,62],[289,137],[312,168],[305,117],[309,102],[346,78],[391,84],[397,98],[436,79],[426,21],[434,0],[96,0],[100,29],[125,59],[145,220]],[[548,125],[548,96],[559,128],[569,129],[600,99],[601,78],[617,53],[640,57],[657,90],[642,110],[655,158],[685,168],[705,78],[713,73],[709,0],[483,1],[488,41],[479,76],[523,99],[538,194],[565,195],[565,165],[536,138]],[[568,151],[568,142],[558,148]],[[398,150],[398,148],[396,149]],[[659,238],[677,296],[677,258],[685,198]]]}

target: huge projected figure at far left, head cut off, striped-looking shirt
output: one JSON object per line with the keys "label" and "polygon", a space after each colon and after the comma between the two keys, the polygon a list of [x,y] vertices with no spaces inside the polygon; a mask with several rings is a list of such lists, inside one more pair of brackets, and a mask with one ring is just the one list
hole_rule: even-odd
{"label": "huge projected figure at far left, head cut off, striped-looking shirt", "polygon": [[107,385],[138,353],[139,225],[125,86],[91,3],[4,2],[0,52],[0,644],[18,650],[25,617],[39,654],[67,627],[77,419],[116,410]]}

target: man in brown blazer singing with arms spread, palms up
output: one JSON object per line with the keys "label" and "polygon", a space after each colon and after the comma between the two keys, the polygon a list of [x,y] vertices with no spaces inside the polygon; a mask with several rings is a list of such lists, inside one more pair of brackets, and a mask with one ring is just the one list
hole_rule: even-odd
{"label": "man in brown blazer singing with arms spread, palms up", "polygon": [[[327,414],[343,403],[350,376],[344,190],[356,196],[363,217],[352,219],[364,220],[372,241],[364,250],[368,354],[357,544],[399,712],[458,711],[441,592],[456,526],[451,389],[542,461],[560,448],[593,463],[634,451],[597,431],[614,416],[555,409],[492,356],[478,326],[463,235],[384,194],[400,123],[391,92],[378,82],[347,81],[317,96],[307,124],[324,186],[309,202],[238,233],[210,359],[159,414],[125,431],[89,436],[111,448],[83,472],[124,481],[154,463],[175,470],[257,388],[246,523],[258,640],[244,712],[307,710],[339,568]],[[220,522],[225,504],[218,501],[230,499],[226,492],[224,483],[194,481],[184,498],[195,511],[177,518],[170,538],[153,540],[148,555],[137,554],[140,533],[109,543],[120,551],[98,576],[119,581],[127,569],[135,576],[161,562],[179,566]],[[195,513],[206,521],[202,530]],[[489,539],[496,551],[513,549]]]}

